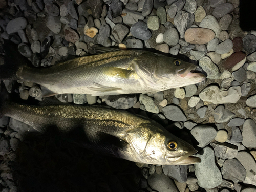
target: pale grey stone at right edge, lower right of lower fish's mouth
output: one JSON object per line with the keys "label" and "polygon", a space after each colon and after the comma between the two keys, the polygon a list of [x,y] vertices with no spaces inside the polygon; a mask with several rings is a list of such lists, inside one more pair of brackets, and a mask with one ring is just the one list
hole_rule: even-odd
{"label": "pale grey stone at right edge, lower right of lower fish's mouth", "polygon": [[244,183],[256,185],[256,162],[253,157],[249,153],[242,151],[238,152],[236,159],[246,169],[246,177]]}

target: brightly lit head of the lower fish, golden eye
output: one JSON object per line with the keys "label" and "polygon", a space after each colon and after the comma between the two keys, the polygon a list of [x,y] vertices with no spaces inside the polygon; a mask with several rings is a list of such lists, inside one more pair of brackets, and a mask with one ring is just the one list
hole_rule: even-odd
{"label": "brightly lit head of the lower fish, golden eye", "polygon": [[140,125],[129,131],[126,138],[138,162],[157,165],[187,165],[200,163],[192,157],[197,151],[189,143],[174,136],[163,127]]}

